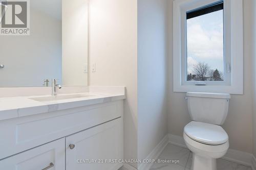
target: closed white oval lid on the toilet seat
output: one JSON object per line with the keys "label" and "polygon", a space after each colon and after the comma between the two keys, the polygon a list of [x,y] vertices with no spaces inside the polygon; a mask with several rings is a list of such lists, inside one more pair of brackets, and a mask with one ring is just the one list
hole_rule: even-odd
{"label": "closed white oval lid on the toilet seat", "polygon": [[191,139],[205,144],[218,145],[228,141],[228,135],[221,126],[202,122],[190,122],[184,132]]}

